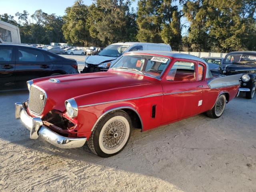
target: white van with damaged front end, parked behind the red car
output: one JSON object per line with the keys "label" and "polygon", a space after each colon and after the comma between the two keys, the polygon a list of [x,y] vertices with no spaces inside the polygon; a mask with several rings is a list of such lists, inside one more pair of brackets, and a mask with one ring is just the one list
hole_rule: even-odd
{"label": "white van with damaged front end, parked behind the red car", "polygon": [[170,45],[164,43],[114,43],[104,48],[98,55],[86,56],[85,67],[81,73],[106,71],[116,63],[122,54],[140,50],[172,51],[172,48]]}

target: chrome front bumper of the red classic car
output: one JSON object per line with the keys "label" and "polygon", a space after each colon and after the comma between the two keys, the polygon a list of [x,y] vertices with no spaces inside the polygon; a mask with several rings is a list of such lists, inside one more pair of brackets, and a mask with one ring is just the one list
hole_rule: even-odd
{"label": "chrome front bumper of the red classic car", "polygon": [[37,139],[40,137],[59,148],[77,148],[82,147],[85,144],[87,140],[86,137],[70,138],[61,136],[44,126],[40,118],[29,116],[22,103],[15,103],[15,106],[15,118],[20,118],[26,128],[30,130],[30,139]]}

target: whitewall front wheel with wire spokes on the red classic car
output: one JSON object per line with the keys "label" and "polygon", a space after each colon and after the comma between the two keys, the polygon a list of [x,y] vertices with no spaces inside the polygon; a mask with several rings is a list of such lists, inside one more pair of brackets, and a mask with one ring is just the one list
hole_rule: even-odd
{"label": "whitewall front wheel with wire spokes on the red classic car", "polygon": [[96,125],[88,140],[90,150],[101,157],[120,153],[128,143],[132,122],[123,110],[106,114]]}

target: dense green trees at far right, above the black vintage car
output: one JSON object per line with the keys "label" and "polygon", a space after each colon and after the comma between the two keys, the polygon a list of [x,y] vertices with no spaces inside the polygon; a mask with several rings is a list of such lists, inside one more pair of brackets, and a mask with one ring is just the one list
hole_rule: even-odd
{"label": "dense green trees at far right, above the black vintage car", "polygon": [[187,1],[188,44],[194,51],[255,50],[255,9],[255,0]]}

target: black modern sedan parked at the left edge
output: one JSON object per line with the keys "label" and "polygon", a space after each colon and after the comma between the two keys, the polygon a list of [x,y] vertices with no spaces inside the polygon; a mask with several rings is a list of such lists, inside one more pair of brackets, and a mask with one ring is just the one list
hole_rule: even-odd
{"label": "black modern sedan parked at the left edge", "polygon": [[27,88],[31,79],[78,73],[76,60],[39,48],[0,44],[0,91]]}

